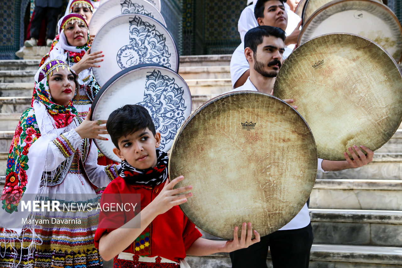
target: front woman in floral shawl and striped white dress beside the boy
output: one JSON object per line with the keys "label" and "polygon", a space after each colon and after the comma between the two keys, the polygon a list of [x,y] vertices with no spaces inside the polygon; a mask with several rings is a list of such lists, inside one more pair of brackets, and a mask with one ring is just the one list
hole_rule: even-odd
{"label": "front woman in floral shawl and striped white dress beside the boy", "polygon": [[[117,166],[97,165],[90,138],[105,140],[99,124],[106,121],[77,116],[71,101],[77,87],[75,72],[61,60],[50,60],[35,75],[33,107],[22,114],[8,155],[0,267],[102,266],[93,242],[98,211],[88,208],[98,200],[94,189],[107,186]],[[33,200],[86,209],[24,209]]]}

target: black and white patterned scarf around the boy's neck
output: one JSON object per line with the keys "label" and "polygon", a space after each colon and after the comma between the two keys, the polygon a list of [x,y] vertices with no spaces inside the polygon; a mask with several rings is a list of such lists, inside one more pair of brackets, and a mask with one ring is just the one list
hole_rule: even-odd
{"label": "black and white patterned scarf around the boy's neck", "polygon": [[156,158],[156,167],[150,167],[149,169],[136,169],[127,161],[122,161],[119,176],[126,178],[129,183],[148,186],[163,183],[168,178],[168,154],[161,150],[156,150]]}

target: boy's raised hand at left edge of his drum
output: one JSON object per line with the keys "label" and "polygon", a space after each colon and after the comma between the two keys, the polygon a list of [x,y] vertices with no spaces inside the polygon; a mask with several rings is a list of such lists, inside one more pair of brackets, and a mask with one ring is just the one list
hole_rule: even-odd
{"label": "boy's raised hand at left edge of his drum", "polygon": [[162,191],[160,191],[160,194],[156,196],[156,198],[148,206],[152,205],[154,211],[159,215],[165,213],[174,206],[187,202],[187,198],[193,196],[193,194],[191,192],[187,194],[181,194],[181,193],[193,189],[193,186],[189,185],[173,189],[173,187],[183,179],[184,179],[183,176],[179,176],[170,182],[166,182]]}

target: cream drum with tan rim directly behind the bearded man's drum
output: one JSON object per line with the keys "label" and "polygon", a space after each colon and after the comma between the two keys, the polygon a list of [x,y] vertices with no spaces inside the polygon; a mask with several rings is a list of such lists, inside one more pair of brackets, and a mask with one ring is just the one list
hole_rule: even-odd
{"label": "cream drum with tan rim directly behind the bearded man's drum", "polygon": [[388,6],[375,0],[340,0],[322,6],[303,25],[297,45],[327,33],[353,33],[402,59],[402,27]]}

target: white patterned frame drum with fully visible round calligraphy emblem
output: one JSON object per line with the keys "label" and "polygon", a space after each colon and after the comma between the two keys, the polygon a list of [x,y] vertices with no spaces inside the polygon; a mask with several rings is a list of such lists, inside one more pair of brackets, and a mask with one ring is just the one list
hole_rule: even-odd
{"label": "white patterned frame drum with fully visible round calligraphy emblem", "polygon": [[178,50],[172,35],[164,25],[142,14],[121,14],[105,23],[91,51],[105,54],[100,67],[92,68],[100,86],[121,70],[142,63],[178,71]]}

